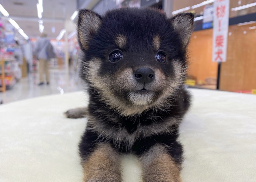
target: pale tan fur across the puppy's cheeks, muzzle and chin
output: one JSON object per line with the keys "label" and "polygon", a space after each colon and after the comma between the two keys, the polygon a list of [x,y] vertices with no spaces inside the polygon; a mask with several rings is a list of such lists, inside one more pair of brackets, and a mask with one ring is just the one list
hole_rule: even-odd
{"label": "pale tan fur across the puppy's cheeks, muzzle and chin", "polygon": [[[119,69],[114,74],[114,77],[108,74],[101,76],[99,75],[101,59],[93,58],[84,64],[84,67],[87,68],[84,70],[86,79],[101,92],[101,99],[122,115],[134,115],[143,112],[149,107],[164,106],[167,97],[176,95],[175,91],[183,85],[186,75],[186,68],[182,66],[179,60],[174,60],[172,62],[174,68],[173,76],[166,77],[161,69],[154,69],[155,80],[147,85],[150,91],[161,94],[142,94],[133,92],[140,87],[143,88],[143,85],[134,79],[131,68]],[[125,95],[128,100],[122,95],[124,91],[128,91],[128,94]],[[120,95],[117,96],[117,93]]]}

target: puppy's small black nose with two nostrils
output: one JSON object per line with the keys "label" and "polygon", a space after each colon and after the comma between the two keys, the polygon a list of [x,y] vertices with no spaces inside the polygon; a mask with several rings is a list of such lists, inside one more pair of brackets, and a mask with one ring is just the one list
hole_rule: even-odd
{"label": "puppy's small black nose with two nostrils", "polygon": [[135,73],[135,79],[142,83],[150,83],[155,79],[154,71],[150,68],[138,68]]}

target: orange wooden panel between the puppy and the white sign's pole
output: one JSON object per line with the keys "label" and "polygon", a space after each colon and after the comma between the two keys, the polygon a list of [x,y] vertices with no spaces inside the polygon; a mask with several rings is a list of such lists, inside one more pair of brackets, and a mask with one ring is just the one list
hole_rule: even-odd
{"label": "orange wooden panel between the puppy and the white sign's pole", "polygon": [[217,63],[211,61],[212,29],[196,31],[192,34],[188,47],[188,75],[196,78],[197,83],[208,77],[217,77]]}

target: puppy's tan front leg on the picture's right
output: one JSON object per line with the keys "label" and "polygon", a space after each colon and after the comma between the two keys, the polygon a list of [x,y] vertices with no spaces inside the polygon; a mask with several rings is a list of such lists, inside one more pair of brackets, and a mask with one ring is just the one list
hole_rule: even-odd
{"label": "puppy's tan front leg on the picture's right", "polygon": [[179,166],[162,144],[155,144],[140,157],[143,182],[181,182]]}

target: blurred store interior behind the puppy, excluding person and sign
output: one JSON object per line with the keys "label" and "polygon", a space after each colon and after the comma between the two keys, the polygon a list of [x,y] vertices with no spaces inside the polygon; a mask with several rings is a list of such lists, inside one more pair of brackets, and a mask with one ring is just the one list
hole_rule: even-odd
{"label": "blurred store interior behind the puppy, excluding person and sign", "polygon": [[[216,0],[215,0],[216,1]],[[0,102],[86,89],[79,79],[77,9],[104,14],[120,7],[155,7],[172,16],[196,13],[188,47],[188,87],[255,94],[256,0],[230,0],[226,61],[212,61],[214,0],[0,0]],[[50,84],[39,84],[33,49],[47,34],[56,58]]]}

